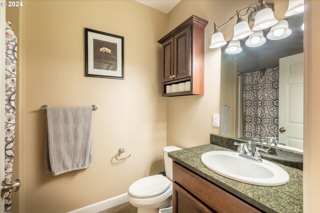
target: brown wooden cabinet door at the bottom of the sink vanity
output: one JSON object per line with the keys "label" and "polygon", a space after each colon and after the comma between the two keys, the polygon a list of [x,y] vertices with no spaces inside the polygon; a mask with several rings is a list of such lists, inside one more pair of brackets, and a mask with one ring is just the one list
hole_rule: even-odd
{"label": "brown wooden cabinet door at the bottom of the sink vanity", "polygon": [[173,183],[173,213],[212,213],[208,208]]}

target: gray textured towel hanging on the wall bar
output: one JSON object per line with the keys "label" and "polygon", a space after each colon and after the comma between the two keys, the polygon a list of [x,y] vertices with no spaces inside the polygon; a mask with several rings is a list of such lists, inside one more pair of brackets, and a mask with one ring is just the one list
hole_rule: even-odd
{"label": "gray textured towel hanging on the wall bar", "polygon": [[47,107],[45,171],[59,175],[92,165],[91,107]]}

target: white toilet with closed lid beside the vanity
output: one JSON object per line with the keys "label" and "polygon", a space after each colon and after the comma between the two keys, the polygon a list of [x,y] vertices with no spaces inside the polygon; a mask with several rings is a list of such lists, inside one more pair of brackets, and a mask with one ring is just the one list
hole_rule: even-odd
{"label": "white toilet with closed lid beside the vanity", "polygon": [[152,175],[131,184],[127,198],[132,206],[138,208],[137,213],[158,213],[160,208],[172,205],[172,159],[168,152],[180,149],[174,146],[163,148],[166,177]]}

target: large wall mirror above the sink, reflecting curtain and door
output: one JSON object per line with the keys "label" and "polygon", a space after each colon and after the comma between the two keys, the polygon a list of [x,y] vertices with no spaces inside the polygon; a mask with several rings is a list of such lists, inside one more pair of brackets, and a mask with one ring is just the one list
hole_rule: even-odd
{"label": "large wall mirror above the sink, reflecting curtain and door", "polygon": [[286,38],[221,48],[220,135],[303,152],[303,13],[285,20]]}

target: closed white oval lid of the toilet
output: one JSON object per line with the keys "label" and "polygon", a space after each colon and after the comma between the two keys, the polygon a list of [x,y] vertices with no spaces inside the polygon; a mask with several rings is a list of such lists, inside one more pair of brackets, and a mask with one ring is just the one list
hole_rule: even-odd
{"label": "closed white oval lid of the toilet", "polygon": [[171,182],[163,175],[141,178],[131,184],[129,194],[135,198],[152,198],[164,193]]}

